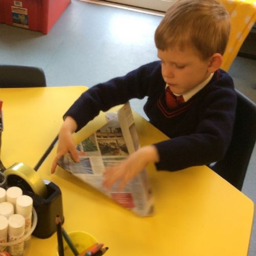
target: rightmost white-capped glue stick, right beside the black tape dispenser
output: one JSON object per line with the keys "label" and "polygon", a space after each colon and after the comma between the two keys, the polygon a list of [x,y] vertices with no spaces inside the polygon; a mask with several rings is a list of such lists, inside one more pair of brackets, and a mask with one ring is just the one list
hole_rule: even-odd
{"label": "rightmost white-capped glue stick, right beside the black tape dispenser", "polygon": [[[32,222],[32,207],[33,199],[29,196],[19,196],[16,200],[16,214],[20,214],[25,218],[25,233],[27,234],[31,229]],[[25,241],[29,240],[28,237]]]}

